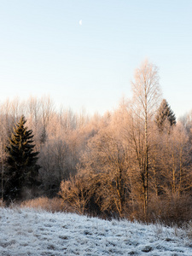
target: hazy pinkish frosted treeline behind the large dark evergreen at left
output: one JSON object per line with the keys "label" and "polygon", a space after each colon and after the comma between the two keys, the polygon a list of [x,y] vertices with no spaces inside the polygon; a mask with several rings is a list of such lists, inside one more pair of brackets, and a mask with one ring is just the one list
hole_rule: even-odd
{"label": "hazy pinkish frosted treeline behind the large dark evergreen at left", "polygon": [[[29,97],[20,102],[18,98],[7,100],[0,105],[0,152],[1,152],[1,195],[3,195],[3,173],[7,168],[9,139],[20,117],[26,118],[26,126],[32,130],[33,142],[38,154],[40,186],[37,195],[57,195],[61,180],[67,180],[77,172],[80,154],[95,125],[86,113],[55,109],[49,96]],[[93,121],[94,123],[95,121]]]}

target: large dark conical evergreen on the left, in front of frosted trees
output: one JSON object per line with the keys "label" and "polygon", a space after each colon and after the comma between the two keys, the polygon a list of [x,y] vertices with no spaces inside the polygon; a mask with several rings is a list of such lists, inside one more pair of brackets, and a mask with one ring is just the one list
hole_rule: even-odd
{"label": "large dark conical evergreen on the left, in front of frosted trees", "polygon": [[38,152],[34,151],[32,130],[27,130],[26,119],[21,116],[9,138],[6,147],[6,189],[4,198],[7,201],[25,198],[25,190],[32,190],[37,182]]}

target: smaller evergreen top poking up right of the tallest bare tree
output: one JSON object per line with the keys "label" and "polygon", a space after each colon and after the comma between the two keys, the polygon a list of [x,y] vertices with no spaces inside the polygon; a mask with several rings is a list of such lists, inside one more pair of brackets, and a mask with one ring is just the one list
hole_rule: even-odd
{"label": "smaller evergreen top poking up right of the tallest bare tree", "polygon": [[164,130],[166,123],[168,123],[170,126],[176,125],[175,114],[165,99],[163,99],[160,103],[160,108],[158,109],[155,116],[155,123],[157,124],[160,131]]}

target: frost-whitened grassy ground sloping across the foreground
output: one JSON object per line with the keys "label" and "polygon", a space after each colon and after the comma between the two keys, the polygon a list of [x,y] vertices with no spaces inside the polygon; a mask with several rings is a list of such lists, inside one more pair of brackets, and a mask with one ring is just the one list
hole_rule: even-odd
{"label": "frost-whitened grassy ground sloping across the foreground", "polygon": [[192,255],[183,230],[63,212],[0,208],[1,256]]}

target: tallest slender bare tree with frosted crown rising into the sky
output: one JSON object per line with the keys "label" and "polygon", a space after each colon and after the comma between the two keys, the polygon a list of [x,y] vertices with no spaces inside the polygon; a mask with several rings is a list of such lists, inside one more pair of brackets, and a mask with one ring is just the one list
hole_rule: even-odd
{"label": "tallest slender bare tree with frosted crown rising into the sky", "polygon": [[[150,122],[154,117],[161,96],[159,80],[157,67],[146,60],[136,69],[134,80],[131,82],[133,92],[131,106],[133,125],[139,125],[139,148],[136,144],[135,149],[137,151],[137,160],[143,180],[145,215],[147,214],[148,207],[148,157],[150,150],[148,137],[150,135]],[[140,147],[140,145],[142,145],[142,147]]]}

